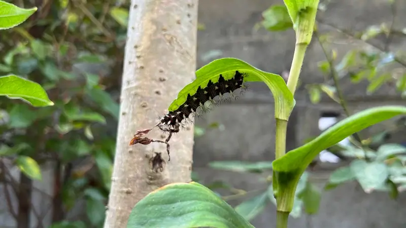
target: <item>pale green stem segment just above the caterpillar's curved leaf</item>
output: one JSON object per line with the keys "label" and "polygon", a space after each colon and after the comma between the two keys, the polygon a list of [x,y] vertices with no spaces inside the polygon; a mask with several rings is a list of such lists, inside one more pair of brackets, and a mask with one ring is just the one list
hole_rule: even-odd
{"label": "pale green stem segment just above the caterpillar's curved leaf", "polygon": [[306,43],[296,43],[287,83],[288,89],[293,95],[295,94],[297,82],[299,81],[300,69],[303,64],[304,53],[306,52],[307,47],[308,44]]}

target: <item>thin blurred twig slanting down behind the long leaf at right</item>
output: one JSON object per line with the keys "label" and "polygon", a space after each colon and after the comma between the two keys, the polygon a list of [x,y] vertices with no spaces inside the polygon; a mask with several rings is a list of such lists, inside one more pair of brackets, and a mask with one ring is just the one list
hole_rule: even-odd
{"label": "thin blurred twig slanting down behind the long leaf at right", "polygon": [[[338,79],[339,76],[338,76],[337,70],[335,69],[335,66],[334,66],[334,62],[333,62],[334,60],[331,59],[331,58],[329,57],[329,55],[327,54],[327,51],[326,51],[326,49],[324,48],[323,43],[320,41],[320,37],[319,37],[318,31],[314,31],[313,34],[315,35],[316,40],[317,40],[318,43],[320,44],[321,49],[323,50],[323,53],[324,53],[324,55],[325,55],[325,57],[326,57],[326,59],[327,59],[327,62],[328,62],[329,68],[330,68],[330,74],[331,74],[331,77],[332,77],[332,79],[333,79],[333,81],[334,81],[334,87],[335,87],[335,89],[337,90],[337,95],[339,96],[339,101],[340,101],[339,104],[343,107],[344,112],[346,113],[346,116],[349,117],[349,116],[351,116],[351,113],[350,113],[350,111],[349,111],[349,109],[348,109],[347,102],[346,102],[346,100],[345,100],[345,98],[344,98],[343,91],[341,90],[341,87],[340,87],[340,83],[339,83],[339,79]],[[361,137],[359,136],[359,134],[358,134],[357,132],[354,133],[354,138],[355,138],[357,141],[360,142],[361,148],[362,148],[362,150],[364,151],[365,160],[368,161],[369,158],[367,157],[366,149],[365,149],[364,145],[362,145]]]}

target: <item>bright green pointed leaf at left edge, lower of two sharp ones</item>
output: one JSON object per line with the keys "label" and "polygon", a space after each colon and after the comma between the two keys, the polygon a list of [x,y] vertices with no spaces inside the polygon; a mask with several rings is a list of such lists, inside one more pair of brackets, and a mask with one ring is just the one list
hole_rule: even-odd
{"label": "bright green pointed leaf at left edge, lower of two sharp ones", "polygon": [[54,105],[40,84],[13,74],[0,77],[0,96],[21,99],[36,107]]}

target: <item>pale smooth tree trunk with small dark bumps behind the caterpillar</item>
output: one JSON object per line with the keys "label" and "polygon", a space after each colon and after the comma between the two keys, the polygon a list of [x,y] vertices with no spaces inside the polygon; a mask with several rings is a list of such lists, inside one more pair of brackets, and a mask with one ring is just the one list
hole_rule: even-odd
{"label": "pale smooth tree trunk with small dark bumps behind the caterpillar", "polygon": [[[120,119],[105,228],[126,227],[134,205],[154,189],[189,182],[193,126],[166,145],[129,146],[137,130],[151,128],[179,91],[195,78],[198,0],[132,0],[120,97]],[[158,128],[149,138],[164,140]],[[163,160],[156,153],[160,153]],[[162,169],[156,169],[162,165]]]}

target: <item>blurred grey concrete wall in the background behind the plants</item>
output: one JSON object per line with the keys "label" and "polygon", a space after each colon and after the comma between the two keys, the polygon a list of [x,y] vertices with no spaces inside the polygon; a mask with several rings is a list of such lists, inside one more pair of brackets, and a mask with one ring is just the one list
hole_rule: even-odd
{"label": "blurred grey concrete wall in the background behind the plants", "polygon": [[[365,29],[368,25],[391,21],[390,7],[386,0],[332,0],[326,12],[319,12],[318,18],[349,30]],[[264,29],[254,30],[261,20],[261,12],[273,4],[283,4],[282,0],[205,0],[199,2],[199,22],[206,25],[206,30],[198,32],[198,67],[216,58],[235,57],[269,72],[282,74],[288,71],[294,51],[294,32],[270,33]],[[406,12],[406,2],[397,1],[397,11]],[[395,28],[405,26],[406,16],[398,14]],[[332,31],[320,26],[320,32]],[[393,39],[391,50],[406,50],[406,43],[398,37]],[[379,41],[376,44],[380,44]],[[336,35],[335,44],[330,45],[338,52],[338,58],[360,42],[348,42],[340,34]],[[342,108],[323,97],[319,104],[309,101],[304,85],[323,82],[317,68],[317,62],[325,60],[317,42],[313,42],[304,60],[301,80],[302,86],[295,95],[296,107],[289,121],[287,147],[292,149],[302,144],[303,140],[320,133],[318,120],[323,111],[342,113]],[[375,94],[367,96],[367,82],[353,85],[347,79],[340,83],[352,112],[367,107],[387,104],[405,104],[396,94],[394,86],[385,85]],[[204,136],[195,139],[194,170],[202,182],[210,183],[223,180],[236,188],[247,191],[266,187],[263,178],[258,174],[244,174],[213,170],[207,168],[210,161],[273,160],[274,156],[274,104],[273,97],[264,84],[253,83],[251,90],[238,101],[220,105],[196,121],[196,125],[206,126],[218,122],[224,126],[221,130],[210,130]],[[390,124],[387,121],[362,132],[366,137],[379,132]],[[403,138],[403,137],[402,137]],[[404,139],[403,139],[404,140]],[[338,165],[340,166],[340,164]],[[333,170],[318,167],[320,188]],[[237,205],[242,200],[229,201]],[[370,227],[406,227],[406,194],[401,194],[395,201],[385,193],[365,194],[358,183],[348,183],[323,193],[320,213],[316,216],[302,216],[291,219],[292,228],[370,228]],[[275,227],[275,206],[271,203],[264,212],[252,220],[257,228]]]}

